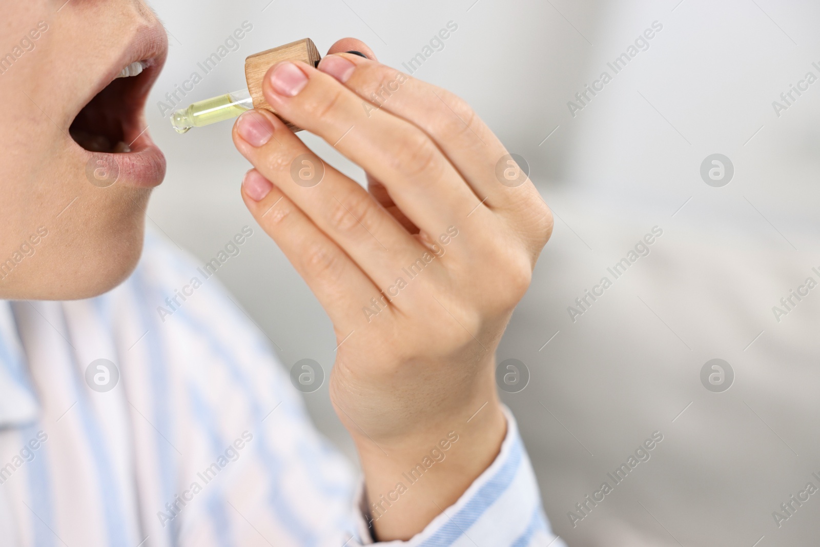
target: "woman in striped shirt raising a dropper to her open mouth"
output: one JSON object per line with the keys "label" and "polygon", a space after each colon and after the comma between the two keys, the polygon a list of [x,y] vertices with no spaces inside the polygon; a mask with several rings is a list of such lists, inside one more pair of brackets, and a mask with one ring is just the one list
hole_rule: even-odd
{"label": "woman in striped shirt raising a dropper to her open mouth", "polygon": [[330,166],[292,177],[309,150],[270,112],[234,127],[244,202],[334,322],[353,504],[251,321],[173,245],[143,245],[165,172],[142,113],[166,57],[157,18],[139,0],[3,7],[3,545],[553,541],[494,384],[552,219],[462,101],[353,39],[317,68],[271,67],[268,103],[362,166],[370,193]]}

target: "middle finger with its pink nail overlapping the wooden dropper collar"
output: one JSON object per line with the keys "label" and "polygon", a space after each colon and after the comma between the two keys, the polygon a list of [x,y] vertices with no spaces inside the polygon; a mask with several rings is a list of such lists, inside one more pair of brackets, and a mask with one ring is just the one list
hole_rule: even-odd
{"label": "middle finger with its pink nail overlapping the wooden dropper collar", "polygon": [[380,180],[428,234],[470,224],[471,234],[481,236],[482,226],[494,220],[485,208],[476,209],[481,199],[426,133],[389,112],[368,117],[362,99],[332,76],[305,63],[283,62],[268,71],[262,89],[276,112]]}

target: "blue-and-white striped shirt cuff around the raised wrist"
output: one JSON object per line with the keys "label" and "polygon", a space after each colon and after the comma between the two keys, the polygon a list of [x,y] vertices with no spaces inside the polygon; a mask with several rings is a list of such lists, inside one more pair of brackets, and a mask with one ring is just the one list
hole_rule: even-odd
{"label": "blue-and-white striped shirt cuff around the raised wrist", "polygon": [[361,545],[462,547],[474,545],[473,539],[480,538],[481,545],[498,547],[564,547],[563,541],[549,530],[541,508],[535,472],[518,434],[515,418],[508,408],[503,407],[503,412],[507,417],[507,435],[498,457],[455,504],[445,508],[444,513],[410,540],[373,542],[364,485],[360,485],[356,520]]}

